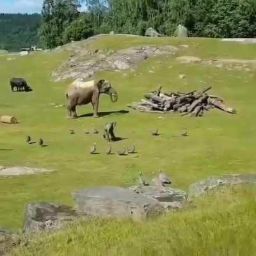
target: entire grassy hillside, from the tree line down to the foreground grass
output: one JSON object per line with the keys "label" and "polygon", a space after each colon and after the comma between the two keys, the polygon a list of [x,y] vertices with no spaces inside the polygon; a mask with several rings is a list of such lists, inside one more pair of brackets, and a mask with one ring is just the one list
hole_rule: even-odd
{"label": "entire grassy hillside, from the tree line down to the foreground grass", "polygon": [[[64,92],[72,78],[52,81],[60,66],[81,65],[81,49],[106,55],[141,45],[169,45],[175,54],[145,58],[129,70],[97,70],[95,77],[111,81],[118,102],[100,98],[100,118],[92,118],[92,106],[78,108],[80,118],[67,120]],[[0,115],[16,116],[20,124],[0,123],[0,166],[29,166],[55,170],[52,173],[0,176],[0,226],[22,227],[28,202],[61,202],[73,205],[70,193],[80,188],[113,185],[129,187],[142,171],[151,180],[160,168],[173,179],[173,188],[209,175],[255,171],[255,57],[256,44],[223,42],[210,38],[145,38],[99,36],[68,44],[51,52],[29,56],[0,56]],[[93,56],[93,55],[92,55]],[[201,61],[180,63],[180,56]],[[74,63],[76,58],[77,63]],[[100,56],[100,58],[103,58]],[[70,61],[70,62],[69,62]],[[84,61],[84,62],[83,62]],[[76,67],[76,66],[74,66]],[[64,72],[65,70],[63,70]],[[84,69],[84,72],[86,70]],[[180,74],[185,77],[181,79]],[[9,79],[24,77],[33,92],[12,93]],[[166,92],[189,92],[212,86],[237,115],[218,110],[202,118],[140,113],[127,108],[159,85]],[[55,104],[55,105],[54,105]],[[106,122],[117,122],[116,134],[125,140],[113,150],[136,144],[138,154],[125,157],[104,154],[102,138]],[[96,127],[100,134],[85,134]],[[189,136],[180,136],[187,128]],[[152,137],[158,128],[161,136]],[[74,129],[75,134],[70,134]],[[35,145],[25,143],[30,135]],[[38,147],[44,138],[48,147]],[[97,143],[100,154],[88,154]],[[66,230],[29,239],[13,255],[253,255],[255,254],[255,187],[236,186],[200,198],[182,212],[154,221],[85,221]],[[236,253],[234,253],[236,248]]]}

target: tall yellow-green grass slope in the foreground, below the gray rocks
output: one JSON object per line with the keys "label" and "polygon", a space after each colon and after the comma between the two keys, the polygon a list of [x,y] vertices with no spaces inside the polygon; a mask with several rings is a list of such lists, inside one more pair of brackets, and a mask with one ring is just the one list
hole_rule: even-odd
{"label": "tall yellow-green grass slope in the foreground, below the gray rocks", "polygon": [[158,220],[84,221],[27,237],[12,256],[251,256],[256,254],[256,188],[223,189]]}

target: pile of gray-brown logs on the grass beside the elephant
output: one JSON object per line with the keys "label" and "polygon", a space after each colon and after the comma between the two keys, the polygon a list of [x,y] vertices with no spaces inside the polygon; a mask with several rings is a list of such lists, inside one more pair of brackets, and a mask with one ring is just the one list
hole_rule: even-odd
{"label": "pile of gray-brown logs on the grass beside the elephant", "polygon": [[144,95],[145,99],[133,102],[129,108],[149,113],[177,112],[184,115],[202,116],[205,111],[213,108],[221,109],[227,113],[236,114],[236,109],[228,108],[221,97],[207,94],[211,87],[202,91],[193,92],[161,92],[162,87],[154,92]]}

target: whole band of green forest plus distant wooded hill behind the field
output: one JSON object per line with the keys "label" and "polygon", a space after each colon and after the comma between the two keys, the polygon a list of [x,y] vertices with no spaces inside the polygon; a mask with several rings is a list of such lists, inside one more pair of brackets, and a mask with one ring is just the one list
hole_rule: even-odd
{"label": "whole band of green forest plus distant wooded hill behind the field", "polygon": [[[81,3],[86,12],[79,12]],[[40,26],[40,22],[42,23]],[[44,0],[40,15],[0,15],[0,49],[52,48],[99,33],[145,35],[152,27],[172,36],[255,37],[255,0]],[[40,28],[39,28],[40,27]]]}

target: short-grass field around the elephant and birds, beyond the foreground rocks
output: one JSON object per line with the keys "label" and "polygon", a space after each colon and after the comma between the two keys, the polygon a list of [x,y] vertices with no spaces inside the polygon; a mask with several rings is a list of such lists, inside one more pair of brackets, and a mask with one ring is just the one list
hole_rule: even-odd
{"label": "short-grass field around the elephant and birds, beyond the foreground rocks", "polygon": [[[148,44],[189,45],[188,48],[180,47],[177,56],[240,60],[256,57],[256,45],[203,38],[177,40],[106,36],[92,41],[88,47],[121,49]],[[182,189],[209,175],[255,171],[255,67],[251,71],[237,71],[213,65],[182,65],[175,61],[177,56],[161,56],[140,63],[134,72],[100,72],[97,77],[109,79],[118,91],[118,102],[113,104],[107,95],[102,95],[102,117],[67,120],[65,107],[54,108],[51,103],[65,104],[64,91],[69,81],[53,83],[50,74],[69,54],[66,51],[40,52],[17,56],[12,61],[0,56],[0,115],[14,115],[20,121],[17,125],[0,124],[0,165],[56,170],[49,175],[0,177],[1,226],[21,227],[24,207],[28,202],[72,204],[72,191],[106,184],[126,187],[134,184],[140,170],[151,179],[152,172],[162,168],[173,178],[173,186]],[[149,73],[149,70],[154,70],[154,73]],[[185,74],[186,79],[179,79],[179,74]],[[8,83],[11,77],[25,77],[33,92],[12,93]],[[212,93],[223,97],[238,113],[228,115],[213,110],[203,118],[182,118],[178,115],[162,115],[163,118],[159,118],[160,115],[127,109],[127,104],[141,99],[143,93],[157,88],[159,84],[166,91],[189,91],[211,85]],[[120,113],[121,110],[129,113]],[[83,106],[78,113],[92,113],[92,107]],[[108,121],[116,121],[116,135],[127,139],[114,143],[113,148],[116,150],[135,143],[138,154],[106,156],[103,154],[106,142],[102,134],[84,134],[84,129],[92,126],[102,131]],[[161,136],[152,138],[150,130],[155,127],[159,128]],[[190,136],[187,138],[177,136],[184,127],[189,129]],[[70,135],[68,129],[74,129],[76,134]],[[44,138],[49,147],[27,145],[25,140],[28,134],[36,141]],[[90,156],[88,150],[94,142],[102,154]],[[175,218],[180,221],[182,216]],[[169,218],[171,220],[168,216],[160,222],[164,223]],[[146,234],[147,230],[143,232]]]}

